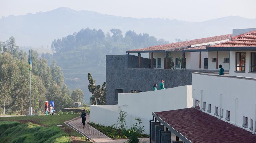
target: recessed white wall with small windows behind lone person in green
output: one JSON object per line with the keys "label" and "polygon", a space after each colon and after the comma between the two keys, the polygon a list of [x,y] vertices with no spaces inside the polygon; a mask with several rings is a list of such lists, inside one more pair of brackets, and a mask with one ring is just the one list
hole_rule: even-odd
{"label": "recessed white wall with small windows behind lone person in green", "polygon": [[[216,58],[217,52],[208,52],[208,70],[216,70],[216,62],[212,62],[212,58]],[[229,63],[224,63],[224,58],[229,58],[229,52],[224,51],[220,52],[218,51],[218,70],[219,65],[222,65],[222,68],[224,70],[229,70]],[[231,61],[231,59],[229,60]],[[204,67],[204,61],[203,61],[203,67]]]}

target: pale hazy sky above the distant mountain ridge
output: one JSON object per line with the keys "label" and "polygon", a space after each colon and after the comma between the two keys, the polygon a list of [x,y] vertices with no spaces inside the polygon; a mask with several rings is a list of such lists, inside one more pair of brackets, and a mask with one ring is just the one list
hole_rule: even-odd
{"label": "pale hazy sky above the distant mountain ridge", "polygon": [[256,0],[0,0],[0,17],[58,7],[135,18],[205,21],[225,16],[256,18]]}

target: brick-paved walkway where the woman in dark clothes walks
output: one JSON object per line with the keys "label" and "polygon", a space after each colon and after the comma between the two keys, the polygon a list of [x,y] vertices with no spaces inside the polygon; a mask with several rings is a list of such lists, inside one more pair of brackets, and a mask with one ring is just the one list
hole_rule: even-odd
{"label": "brick-paved walkway where the woman in dark clothes walks", "polygon": [[[65,123],[95,143],[123,143],[127,141],[127,139],[113,140],[109,138],[105,134],[101,133],[100,131],[96,130],[94,127],[87,124],[89,122],[89,118],[90,118],[90,115],[87,115],[86,122],[85,122],[86,124],[84,128],[83,128],[83,124],[80,117],[67,121]],[[141,138],[139,140],[141,141],[141,143],[149,143],[149,138]]]}

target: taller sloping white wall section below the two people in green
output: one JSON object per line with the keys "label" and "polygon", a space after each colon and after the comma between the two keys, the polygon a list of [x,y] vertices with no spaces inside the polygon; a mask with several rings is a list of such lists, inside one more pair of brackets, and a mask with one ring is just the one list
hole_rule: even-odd
{"label": "taller sloping white wall section below the two people in green", "polygon": [[150,119],[152,112],[193,106],[192,86],[179,86],[157,91],[118,94],[118,105],[127,114]]}

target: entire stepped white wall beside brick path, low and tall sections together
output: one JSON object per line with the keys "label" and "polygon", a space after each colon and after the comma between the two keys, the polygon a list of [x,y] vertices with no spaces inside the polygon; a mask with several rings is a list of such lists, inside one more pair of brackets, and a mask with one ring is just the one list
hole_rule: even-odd
{"label": "entire stepped white wall beside brick path, low and tall sections together", "polygon": [[127,126],[131,127],[141,118],[145,133],[149,133],[149,120],[152,112],[183,109],[193,106],[192,86],[148,91],[140,93],[118,94],[118,105],[90,106],[90,121],[105,126],[117,124],[119,111],[123,109],[128,115]]}

